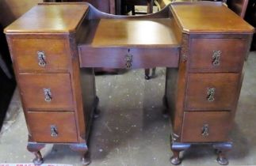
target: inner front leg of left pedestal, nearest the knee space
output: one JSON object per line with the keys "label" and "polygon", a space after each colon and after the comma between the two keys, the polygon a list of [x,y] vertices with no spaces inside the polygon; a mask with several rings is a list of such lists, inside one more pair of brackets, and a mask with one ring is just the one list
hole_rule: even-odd
{"label": "inner front leg of left pedestal, nearest the knee space", "polygon": [[89,165],[90,164],[90,153],[88,151],[88,147],[86,143],[80,144],[71,144],[70,148],[78,153],[82,154],[82,165]]}

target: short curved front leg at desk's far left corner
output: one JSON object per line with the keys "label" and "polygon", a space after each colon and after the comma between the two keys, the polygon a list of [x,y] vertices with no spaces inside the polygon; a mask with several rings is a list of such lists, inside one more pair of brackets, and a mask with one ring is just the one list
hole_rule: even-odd
{"label": "short curved front leg at desk's far left corner", "polygon": [[32,160],[33,164],[40,165],[44,163],[43,157],[40,153],[40,149],[44,148],[44,144],[28,143],[27,149],[29,152],[34,153],[35,158]]}

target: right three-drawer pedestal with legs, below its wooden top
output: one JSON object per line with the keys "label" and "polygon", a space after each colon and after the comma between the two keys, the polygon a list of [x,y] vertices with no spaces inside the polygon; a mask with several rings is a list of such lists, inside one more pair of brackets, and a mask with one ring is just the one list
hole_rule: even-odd
{"label": "right three-drawer pedestal with legs, below its wooden top", "polygon": [[[234,123],[250,37],[184,34],[182,38],[179,69],[166,71],[165,100],[173,126],[170,147],[174,155],[170,162],[180,164],[179,153],[190,145],[211,144],[219,164],[228,164],[225,153],[232,147],[228,134]],[[206,42],[208,45],[203,44]]]}

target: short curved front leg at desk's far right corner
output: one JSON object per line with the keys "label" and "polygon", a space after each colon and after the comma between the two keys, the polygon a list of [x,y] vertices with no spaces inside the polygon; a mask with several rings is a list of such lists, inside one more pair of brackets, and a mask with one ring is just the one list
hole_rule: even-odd
{"label": "short curved front leg at desk's far right corner", "polygon": [[216,149],[216,153],[218,154],[217,161],[221,165],[227,165],[228,159],[226,157],[227,151],[232,148],[231,142],[220,142],[213,145],[213,148]]}

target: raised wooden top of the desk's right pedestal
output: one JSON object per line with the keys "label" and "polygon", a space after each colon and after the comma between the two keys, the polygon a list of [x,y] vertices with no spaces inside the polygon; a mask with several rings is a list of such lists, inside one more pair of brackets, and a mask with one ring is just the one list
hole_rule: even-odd
{"label": "raised wooden top of the desk's right pedestal", "polygon": [[221,2],[177,2],[171,9],[183,32],[254,32],[254,27]]}

